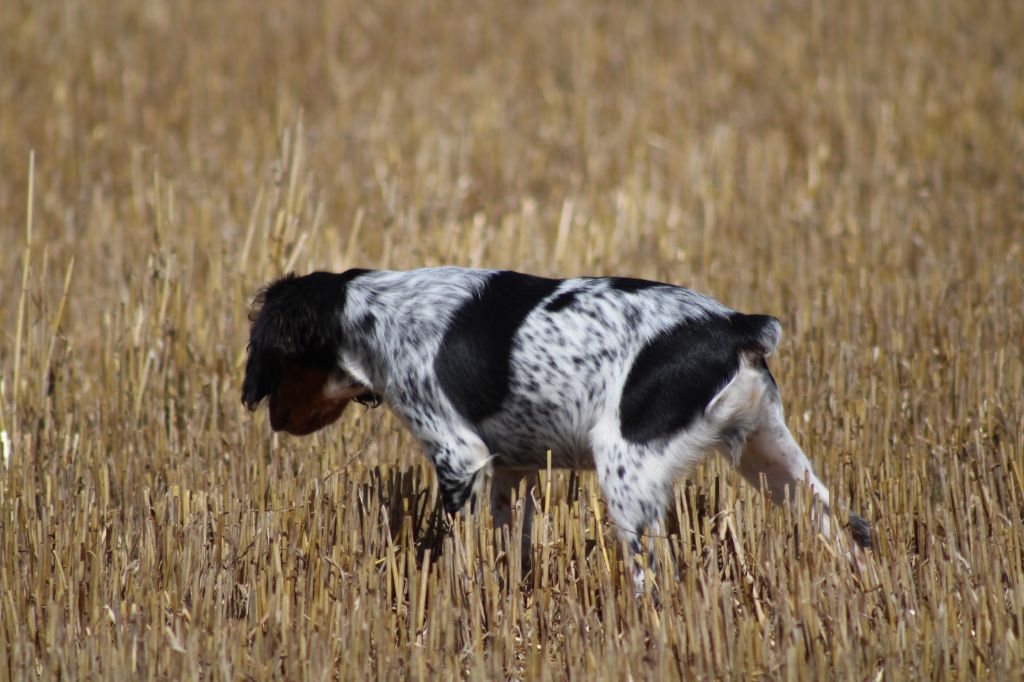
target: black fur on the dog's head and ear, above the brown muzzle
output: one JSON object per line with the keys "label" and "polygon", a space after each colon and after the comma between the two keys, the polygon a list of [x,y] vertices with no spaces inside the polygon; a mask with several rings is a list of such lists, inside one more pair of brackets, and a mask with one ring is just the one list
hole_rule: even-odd
{"label": "black fur on the dog's head and ear, above the brown muzzle", "polygon": [[242,402],[255,410],[281,385],[284,359],[331,369],[337,363],[345,287],[368,270],[289,273],[264,288],[249,310],[249,357]]}

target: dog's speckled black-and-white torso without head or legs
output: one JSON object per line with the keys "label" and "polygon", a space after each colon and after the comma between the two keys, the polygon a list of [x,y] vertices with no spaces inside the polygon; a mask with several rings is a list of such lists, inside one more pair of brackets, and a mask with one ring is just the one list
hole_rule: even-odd
{"label": "dog's speckled black-and-white torso without head or legs", "polygon": [[612,415],[634,441],[671,437],[735,376],[742,350],[764,337],[771,352],[778,334],[771,317],[681,287],[451,267],[361,274],[346,318],[350,338],[375,337],[355,351],[369,373],[399,375],[399,414],[415,424],[425,403],[445,402],[497,464],[522,469],[545,466],[549,450],[555,466],[593,468],[591,431]]}

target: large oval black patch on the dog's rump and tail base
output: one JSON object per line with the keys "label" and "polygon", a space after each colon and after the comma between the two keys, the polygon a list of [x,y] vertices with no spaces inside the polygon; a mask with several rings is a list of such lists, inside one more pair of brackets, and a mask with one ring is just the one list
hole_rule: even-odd
{"label": "large oval black patch on the dog's rump and tail base", "polygon": [[738,312],[713,314],[651,339],[637,354],[623,388],[623,437],[645,443],[689,426],[736,374],[739,352],[760,351],[768,321],[772,318]]}

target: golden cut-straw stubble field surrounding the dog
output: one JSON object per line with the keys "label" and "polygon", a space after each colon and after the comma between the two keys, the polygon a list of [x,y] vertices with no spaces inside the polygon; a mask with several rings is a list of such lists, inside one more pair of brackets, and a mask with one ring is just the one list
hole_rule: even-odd
{"label": "golden cut-straw stubble field surrounding the dog", "polygon": [[[1024,4],[0,3],[0,679],[1019,679]],[[288,269],[628,274],[785,329],[861,565],[713,462],[443,530],[386,411],[239,400]],[[677,577],[678,569],[678,577]]]}

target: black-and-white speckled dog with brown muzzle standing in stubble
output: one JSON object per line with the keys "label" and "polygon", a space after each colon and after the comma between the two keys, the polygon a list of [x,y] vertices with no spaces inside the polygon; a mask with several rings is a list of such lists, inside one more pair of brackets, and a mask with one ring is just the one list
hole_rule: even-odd
{"label": "black-and-white speckled dog with brown muzzle standing in stubble", "polygon": [[[643,280],[440,267],[290,274],[257,296],[250,321],[250,410],[269,397],[270,426],[301,435],[351,399],[383,398],[422,441],[449,512],[489,471],[506,522],[509,491],[551,451],[557,468],[597,470],[639,551],[673,480],[717,451],[755,485],[764,475],[776,501],[806,480],[828,536],[828,489],[765,363],[781,335],[774,317]],[[851,515],[850,529],[870,545],[863,519]]]}

